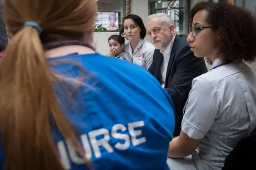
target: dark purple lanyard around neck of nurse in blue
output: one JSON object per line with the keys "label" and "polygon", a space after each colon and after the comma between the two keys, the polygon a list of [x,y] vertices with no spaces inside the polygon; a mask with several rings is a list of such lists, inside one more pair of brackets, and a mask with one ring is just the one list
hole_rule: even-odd
{"label": "dark purple lanyard around neck of nurse in blue", "polygon": [[88,48],[91,48],[92,50],[95,50],[90,44],[79,41],[79,40],[67,40],[67,41],[60,41],[60,42],[53,42],[44,44],[44,50],[51,50],[53,48],[58,48],[62,46],[70,46],[70,45],[79,45],[79,46],[85,46]]}

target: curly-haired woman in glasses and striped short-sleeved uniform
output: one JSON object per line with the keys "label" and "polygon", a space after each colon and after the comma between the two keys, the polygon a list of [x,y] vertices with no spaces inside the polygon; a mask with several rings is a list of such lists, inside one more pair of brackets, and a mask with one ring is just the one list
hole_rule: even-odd
{"label": "curly-haired woman in glasses and striped short-sleeved uniform", "polygon": [[256,128],[256,73],[244,63],[256,60],[256,18],[232,4],[211,2],[196,4],[190,18],[191,50],[213,64],[192,82],[168,165],[221,170],[238,141]]}

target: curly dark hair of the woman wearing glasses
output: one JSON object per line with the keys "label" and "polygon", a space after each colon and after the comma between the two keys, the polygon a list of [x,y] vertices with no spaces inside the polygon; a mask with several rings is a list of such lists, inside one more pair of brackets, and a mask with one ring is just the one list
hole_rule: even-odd
{"label": "curly dark hair of the woman wearing glasses", "polygon": [[222,62],[256,60],[256,17],[251,12],[225,2],[200,2],[190,10],[190,27],[200,10],[208,12],[206,21],[214,27]]}

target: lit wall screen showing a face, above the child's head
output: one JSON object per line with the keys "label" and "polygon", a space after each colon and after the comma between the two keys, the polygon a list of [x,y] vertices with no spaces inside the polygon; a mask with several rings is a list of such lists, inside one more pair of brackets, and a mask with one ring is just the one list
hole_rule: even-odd
{"label": "lit wall screen showing a face, above the child's head", "polygon": [[108,31],[116,31],[120,26],[120,12],[98,12],[96,26],[100,24]]}

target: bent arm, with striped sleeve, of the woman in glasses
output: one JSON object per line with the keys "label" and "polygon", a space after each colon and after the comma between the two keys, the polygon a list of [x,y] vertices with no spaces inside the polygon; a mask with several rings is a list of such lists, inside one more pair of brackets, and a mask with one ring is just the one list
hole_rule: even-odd
{"label": "bent arm, with striped sleeve, of the woman in glasses", "polygon": [[198,148],[214,123],[219,105],[218,89],[214,83],[204,78],[196,78],[189,94],[180,136],[170,142],[168,157],[183,158]]}

